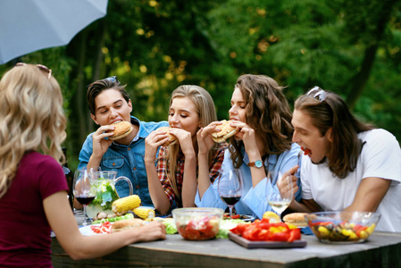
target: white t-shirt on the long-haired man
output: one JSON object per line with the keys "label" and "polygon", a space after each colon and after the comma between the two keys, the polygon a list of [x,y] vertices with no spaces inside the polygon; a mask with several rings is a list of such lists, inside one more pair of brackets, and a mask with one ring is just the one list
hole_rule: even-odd
{"label": "white t-shirt on the long-haired man", "polygon": [[326,163],[314,164],[303,155],[301,165],[302,198],[313,199],[324,211],[340,211],[354,202],[361,180],[378,177],[392,180],[377,209],[381,214],[376,230],[401,232],[401,149],[387,130],[369,130],[358,134],[365,144],[356,169],[338,179]]}

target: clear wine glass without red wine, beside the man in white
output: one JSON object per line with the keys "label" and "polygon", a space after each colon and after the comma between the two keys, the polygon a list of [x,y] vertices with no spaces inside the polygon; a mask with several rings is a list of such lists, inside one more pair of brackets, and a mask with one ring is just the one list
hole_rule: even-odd
{"label": "clear wine glass without red wine, beside the man in white", "polygon": [[[279,214],[281,219],[282,212],[287,209],[288,205],[292,201],[292,198],[294,197],[293,181],[291,176],[283,176],[280,172],[277,182],[274,178],[274,173],[272,172],[269,172],[268,179],[270,180],[270,183],[267,183],[267,185],[270,188],[269,184],[271,184],[272,188],[268,190],[268,192],[270,191],[271,194],[267,196],[267,201],[269,205],[272,206],[272,209]],[[278,185],[280,183],[280,189],[274,182],[276,182]]]}

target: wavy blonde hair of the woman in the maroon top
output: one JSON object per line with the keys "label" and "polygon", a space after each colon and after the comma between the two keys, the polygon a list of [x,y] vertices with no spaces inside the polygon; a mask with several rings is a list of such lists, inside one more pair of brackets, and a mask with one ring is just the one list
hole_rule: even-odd
{"label": "wavy blonde hair of the woman in the maroon top", "polygon": [[1,198],[27,152],[41,150],[64,161],[67,120],[59,84],[36,65],[15,66],[0,80],[0,118]]}

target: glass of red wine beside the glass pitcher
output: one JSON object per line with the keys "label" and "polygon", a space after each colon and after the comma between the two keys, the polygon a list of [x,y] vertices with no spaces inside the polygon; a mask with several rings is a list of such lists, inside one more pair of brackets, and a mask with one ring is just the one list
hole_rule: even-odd
{"label": "glass of red wine beside the glass pitcher", "polygon": [[74,197],[84,207],[84,220],[82,226],[91,223],[87,215],[87,205],[96,197],[96,187],[92,187],[94,181],[93,173],[86,169],[77,170],[74,175]]}

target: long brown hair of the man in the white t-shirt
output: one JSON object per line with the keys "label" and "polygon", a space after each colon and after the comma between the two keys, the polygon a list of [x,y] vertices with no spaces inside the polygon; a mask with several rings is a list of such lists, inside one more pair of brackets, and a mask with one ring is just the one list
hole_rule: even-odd
{"label": "long brown hair of the man in the white t-shirt", "polygon": [[331,172],[344,179],[348,172],[355,171],[362,151],[363,143],[357,134],[374,127],[358,121],[340,96],[327,90],[325,92],[327,96],[323,101],[307,95],[298,97],[295,109],[308,114],[322,136],[332,128],[333,143],[327,157],[328,165]]}

